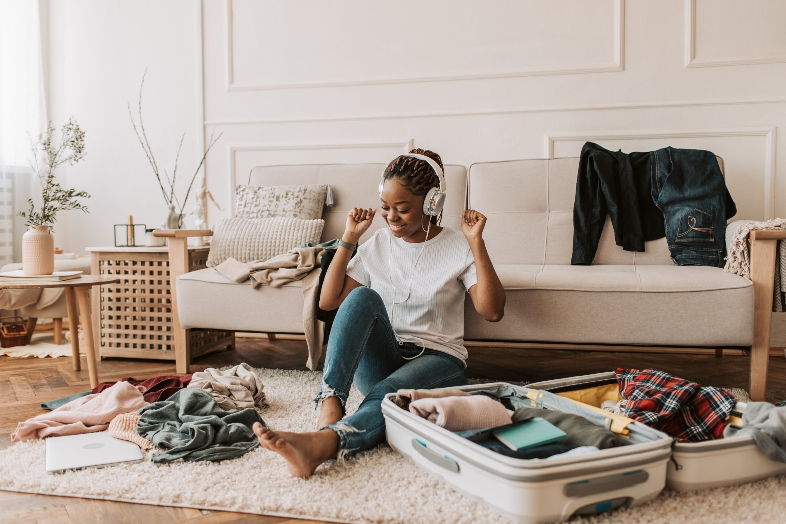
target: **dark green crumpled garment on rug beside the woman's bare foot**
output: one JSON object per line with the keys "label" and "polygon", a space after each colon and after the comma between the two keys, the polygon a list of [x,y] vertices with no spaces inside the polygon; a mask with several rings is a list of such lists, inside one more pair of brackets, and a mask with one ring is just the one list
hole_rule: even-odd
{"label": "dark green crumpled garment on rug beside the woman's bare foot", "polygon": [[140,409],[137,433],[166,450],[152,456],[155,463],[224,460],[259,445],[255,422],[267,427],[255,409],[224,411],[207,391],[185,388]]}

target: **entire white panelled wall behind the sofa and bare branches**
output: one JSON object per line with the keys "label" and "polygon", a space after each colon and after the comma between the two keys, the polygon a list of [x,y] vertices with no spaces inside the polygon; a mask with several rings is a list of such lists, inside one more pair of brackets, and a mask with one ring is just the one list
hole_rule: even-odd
{"label": "entire white panelled wall behind the sofa and bare branches", "polygon": [[465,165],[586,140],[707,148],[737,218],[786,216],[780,0],[199,3],[52,3],[53,115],[88,131],[68,182],[95,196],[68,217],[69,248],[110,242],[127,214],[163,217],[125,109],[145,67],[160,163],[186,130],[195,167],[203,108],[204,133],[224,133],[207,176],[227,211],[210,222],[254,165],[384,162],[410,141]]}

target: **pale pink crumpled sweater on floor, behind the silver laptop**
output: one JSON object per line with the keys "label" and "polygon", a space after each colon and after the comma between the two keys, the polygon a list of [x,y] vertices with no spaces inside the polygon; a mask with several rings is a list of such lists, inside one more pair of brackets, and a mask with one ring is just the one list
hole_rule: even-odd
{"label": "pale pink crumpled sweater on floor, behind the silver laptop", "polygon": [[139,411],[148,405],[143,393],[145,387],[116,383],[101,393],[77,398],[51,412],[20,422],[11,440],[24,442],[33,438],[104,431],[120,413]]}

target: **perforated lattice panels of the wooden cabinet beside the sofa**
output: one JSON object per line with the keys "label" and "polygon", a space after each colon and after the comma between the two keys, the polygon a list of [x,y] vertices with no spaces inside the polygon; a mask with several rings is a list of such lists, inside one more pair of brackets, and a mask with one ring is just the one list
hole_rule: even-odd
{"label": "perforated lattice panels of the wooden cabinet beside the sofa", "polygon": [[[189,250],[189,271],[207,267],[208,251],[208,247]],[[101,357],[174,361],[169,255],[94,252],[93,256],[97,273],[120,279],[119,284],[93,291],[100,293],[94,307],[99,313]],[[186,330],[191,357],[230,346],[233,337],[228,332]]]}

